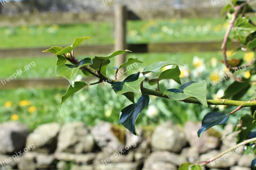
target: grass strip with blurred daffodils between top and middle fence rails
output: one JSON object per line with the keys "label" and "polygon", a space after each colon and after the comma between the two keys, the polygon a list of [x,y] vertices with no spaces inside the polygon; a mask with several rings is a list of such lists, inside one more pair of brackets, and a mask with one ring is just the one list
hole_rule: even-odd
{"label": "grass strip with blurred daffodils between top and middle fence rails", "polygon": [[[225,24],[224,24],[225,25]],[[226,25],[225,25],[226,26]],[[213,41],[225,33],[222,18],[128,21],[128,43]],[[85,44],[113,44],[110,23],[0,27],[1,48],[34,48],[70,45],[75,37],[90,36]]]}

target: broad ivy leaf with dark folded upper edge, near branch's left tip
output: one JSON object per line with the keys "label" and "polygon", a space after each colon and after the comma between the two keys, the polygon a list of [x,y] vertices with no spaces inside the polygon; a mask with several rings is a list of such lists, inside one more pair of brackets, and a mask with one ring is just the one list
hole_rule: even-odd
{"label": "broad ivy leaf with dark folded upper edge, near branch's left tip", "polygon": [[91,58],[85,58],[81,60],[79,63],[76,65],[70,65],[70,64],[62,64],[58,65],[55,69],[55,74],[56,76],[63,76],[68,79],[72,87],[75,85],[75,78],[76,78],[76,73],[77,71],[85,66],[85,65],[90,65],[92,64]]}

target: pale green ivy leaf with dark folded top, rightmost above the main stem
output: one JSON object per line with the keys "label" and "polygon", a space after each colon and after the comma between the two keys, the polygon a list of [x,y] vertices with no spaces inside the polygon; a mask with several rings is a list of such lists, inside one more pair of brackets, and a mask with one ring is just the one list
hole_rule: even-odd
{"label": "pale green ivy leaf with dark folded top, rightmost above the main stem", "polygon": [[199,100],[205,107],[208,107],[206,101],[206,81],[201,83],[189,82],[182,86],[179,89],[169,89],[164,92],[164,95],[167,95],[172,100],[185,100],[189,97],[194,97]]}

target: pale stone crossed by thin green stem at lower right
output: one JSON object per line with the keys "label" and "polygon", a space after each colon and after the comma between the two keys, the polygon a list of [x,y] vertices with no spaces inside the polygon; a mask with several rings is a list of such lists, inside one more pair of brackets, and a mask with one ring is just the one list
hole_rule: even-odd
{"label": "pale stone crossed by thin green stem at lower right", "polygon": [[[219,155],[221,151],[213,150],[208,153],[202,154],[200,156],[200,162],[207,161],[209,159],[214,158],[215,156]],[[231,153],[226,153],[222,157],[216,159],[215,161],[210,162],[206,166],[209,168],[227,168],[236,165],[238,159],[240,158],[241,153],[239,152],[234,152],[233,154]]]}

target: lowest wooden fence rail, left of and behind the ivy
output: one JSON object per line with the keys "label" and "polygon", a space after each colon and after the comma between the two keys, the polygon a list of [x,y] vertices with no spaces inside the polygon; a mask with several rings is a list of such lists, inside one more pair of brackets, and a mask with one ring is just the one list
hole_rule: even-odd
{"label": "lowest wooden fence rail, left of and behind the ivy", "polygon": [[[91,81],[92,77],[83,79]],[[3,85],[0,83],[0,90],[17,89],[17,88],[68,88],[70,83],[64,78],[38,78],[38,79],[15,79]]]}

